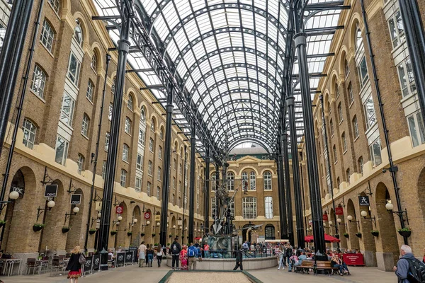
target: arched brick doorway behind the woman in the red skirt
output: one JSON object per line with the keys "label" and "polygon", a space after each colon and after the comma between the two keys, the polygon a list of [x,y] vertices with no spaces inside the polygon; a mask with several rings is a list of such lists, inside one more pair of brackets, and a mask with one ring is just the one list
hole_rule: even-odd
{"label": "arched brick doorway behind the woman in the red skirt", "polygon": [[[69,215],[69,224],[64,223],[64,226],[69,226],[69,232],[67,233],[67,252],[70,252],[75,246],[84,247],[84,233],[86,226],[83,224],[84,215],[84,193],[81,189],[77,189],[75,194],[81,195],[81,204],[77,205],[79,212],[74,214],[74,205],[67,212]],[[69,195],[71,197],[71,195]]]}

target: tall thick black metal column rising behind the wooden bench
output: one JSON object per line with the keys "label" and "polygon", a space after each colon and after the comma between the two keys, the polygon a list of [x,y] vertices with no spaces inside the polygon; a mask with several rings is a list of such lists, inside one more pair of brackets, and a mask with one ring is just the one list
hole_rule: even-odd
{"label": "tall thick black metal column rising behind the wooden bench", "polygon": [[[295,23],[300,16],[295,12]],[[322,201],[320,200],[319,172],[317,170],[316,144],[314,143],[314,125],[312,115],[312,96],[310,94],[310,80],[307,65],[307,35],[301,32],[300,25],[296,24],[294,35],[297,47],[298,65],[300,68],[300,88],[302,97],[302,112],[305,128],[305,149],[307,154],[308,183],[310,187],[310,202],[312,209],[314,249],[325,255],[324,229],[322,219]]]}

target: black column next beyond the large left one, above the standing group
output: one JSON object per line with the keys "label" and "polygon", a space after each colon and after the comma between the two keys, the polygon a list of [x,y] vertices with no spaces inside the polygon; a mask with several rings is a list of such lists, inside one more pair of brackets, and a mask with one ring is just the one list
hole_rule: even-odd
{"label": "black column next beyond the large left one, above the standing group", "polygon": [[169,203],[170,167],[171,167],[171,125],[173,124],[173,94],[174,89],[167,89],[166,93],[166,122],[165,122],[165,144],[164,144],[164,173],[162,175],[162,204],[161,204],[161,229],[159,230],[159,244],[166,248],[167,218]]}

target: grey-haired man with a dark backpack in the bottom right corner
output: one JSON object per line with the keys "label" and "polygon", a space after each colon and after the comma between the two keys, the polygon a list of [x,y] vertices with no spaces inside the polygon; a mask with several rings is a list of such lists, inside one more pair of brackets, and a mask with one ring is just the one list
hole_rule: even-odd
{"label": "grey-haired man with a dark backpack in the bottom right corner", "polygon": [[425,265],[416,259],[412,253],[412,248],[403,245],[400,248],[402,255],[397,262],[397,267],[393,267],[399,283],[424,283]]}

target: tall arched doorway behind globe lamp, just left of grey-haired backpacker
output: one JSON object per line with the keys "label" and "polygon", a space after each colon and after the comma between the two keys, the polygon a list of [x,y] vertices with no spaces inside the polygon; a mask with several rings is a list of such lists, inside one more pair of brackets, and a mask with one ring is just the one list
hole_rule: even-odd
{"label": "tall arched doorway behind globe lamp, just left of grey-haired backpacker", "polygon": [[[378,183],[376,186],[376,221],[378,224],[379,236],[376,239],[376,258],[378,269],[391,271],[399,256],[399,244],[397,242],[397,233],[395,228],[395,214],[387,212],[385,204],[390,202],[395,204],[390,192],[384,183]],[[397,204],[395,204],[397,207]],[[397,216],[396,216],[397,217]]]}

